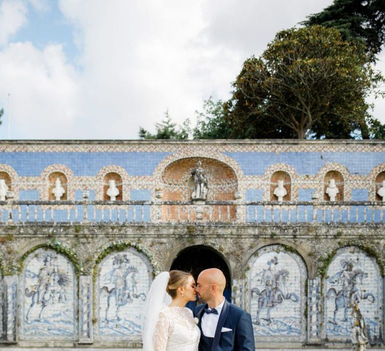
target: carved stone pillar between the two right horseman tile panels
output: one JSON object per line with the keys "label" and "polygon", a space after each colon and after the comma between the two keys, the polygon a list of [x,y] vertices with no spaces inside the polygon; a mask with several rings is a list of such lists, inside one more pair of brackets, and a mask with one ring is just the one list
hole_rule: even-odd
{"label": "carved stone pillar between the two right horseman tile panels", "polygon": [[307,340],[309,343],[320,343],[320,279],[308,280],[307,294]]}

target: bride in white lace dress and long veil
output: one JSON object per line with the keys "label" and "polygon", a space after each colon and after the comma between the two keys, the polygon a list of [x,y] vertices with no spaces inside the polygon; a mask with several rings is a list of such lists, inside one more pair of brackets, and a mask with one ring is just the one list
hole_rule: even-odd
{"label": "bride in white lace dress and long veil", "polygon": [[189,273],[172,270],[155,277],[143,309],[143,351],[198,351],[201,331],[184,307],[196,296]]}

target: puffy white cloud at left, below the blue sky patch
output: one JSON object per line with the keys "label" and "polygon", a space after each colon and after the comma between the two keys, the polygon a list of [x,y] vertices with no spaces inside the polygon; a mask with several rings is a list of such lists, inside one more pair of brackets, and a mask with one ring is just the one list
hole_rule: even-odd
{"label": "puffy white cloud at left, below the blue sky patch", "polygon": [[2,87],[11,93],[13,135],[68,137],[77,116],[78,85],[62,47],[40,51],[28,42],[10,44],[0,53],[0,67]]}

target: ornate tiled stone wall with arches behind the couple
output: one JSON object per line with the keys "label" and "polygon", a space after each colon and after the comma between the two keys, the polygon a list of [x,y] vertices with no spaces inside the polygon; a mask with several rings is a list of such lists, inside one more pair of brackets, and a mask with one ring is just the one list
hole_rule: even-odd
{"label": "ornate tiled stone wall with arches behind the couple", "polygon": [[[0,143],[0,178],[7,174],[15,192],[0,202],[2,342],[25,349],[140,347],[140,312],[154,275],[169,270],[182,253],[187,259],[189,248],[202,248],[226,263],[231,299],[251,313],[258,347],[350,347],[351,301],[359,302],[370,343],[382,347],[384,208],[374,201],[385,171],[384,146],[370,141]],[[153,208],[165,206],[162,201],[190,202],[197,160],[207,171],[208,201],[230,202],[228,220],[220,218],[214,202],[205,205],[210,218],[187,221],[184,214],[177,221],[182,211],[175,203],[167,210],[171,221],[164,213],[162,220],[155,218]],[[335,204],[324,202],[330,172],[341,175],[343,197],[337,202],[343,200],[343,211],[350,211],[349,202],[359,202],[358,223],[347,221],[347,212],[332,220]],[[67,198],[47,203],[58,173],[67,180]],[[147,212],[136,223],[91,216],[98,206],[114,206],[105,194],[112,173],[121,180],[126,211],[133,211],[129,201],[147,201]],[[270,203],[280,174],[290,197]],[[88,221],[78,222],[66,211],[83,212],[76,201],[84,191],[93,209],[86,208]],[[34,221],[22,212],[29,201],[35,201],[28,205],[36,207]],[[250,201],[256,203],[245,213]],[[305,201],[312,211],[318,204],[326,219],[311,215],[301,221],[307,210],[300,205],[298,221],[289,220],[288,208],[273,220],[285,201]],[[259,213],[264,202],[270,217]],[[60,221],[43,220],[43,206]],[[245,220],[255,214],[258,220]]]}

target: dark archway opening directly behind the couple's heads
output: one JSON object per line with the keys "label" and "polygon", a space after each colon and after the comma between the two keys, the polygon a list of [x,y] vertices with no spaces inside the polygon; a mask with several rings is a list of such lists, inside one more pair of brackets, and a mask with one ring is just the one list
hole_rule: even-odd
{"label": "dark archway opening directly behind the couple's heads", "polygon": [[[190,246],[178,253],[171,264],[172,269],[191,272],[197,281],[199,273],[207,268],[218,268],[226,277],[224,296],[231,302],[231,276],[226,261],[211,247],[204,245]],[[193,308],[196,303],[188,303],[187,307]]]}

